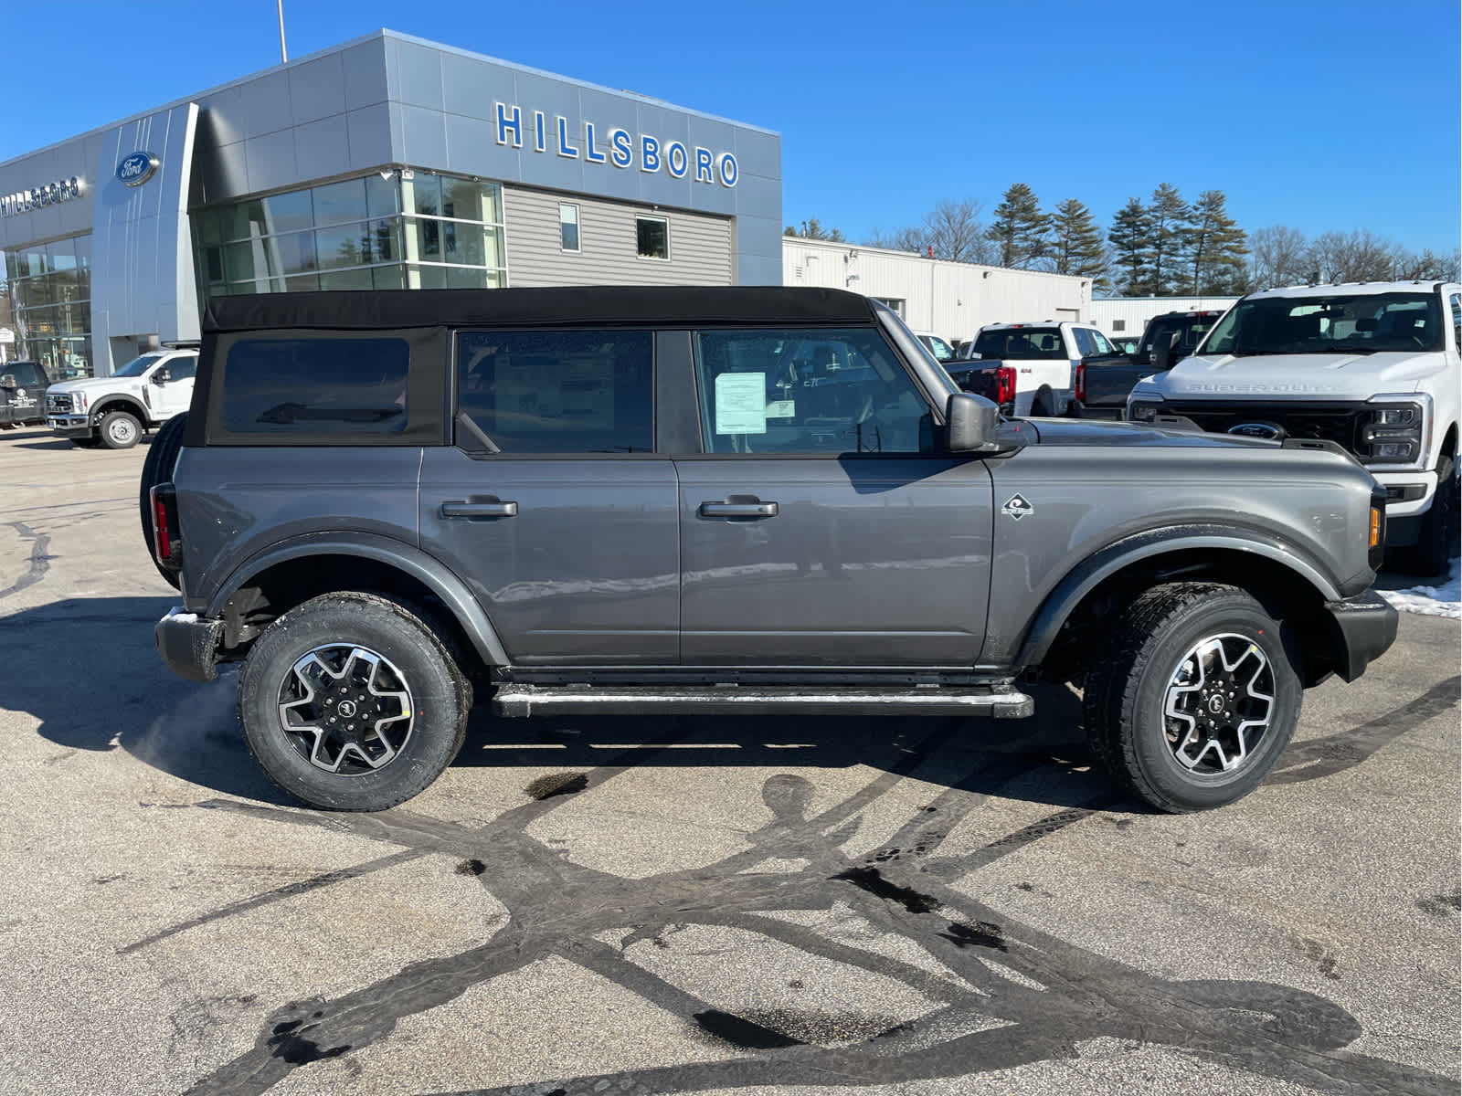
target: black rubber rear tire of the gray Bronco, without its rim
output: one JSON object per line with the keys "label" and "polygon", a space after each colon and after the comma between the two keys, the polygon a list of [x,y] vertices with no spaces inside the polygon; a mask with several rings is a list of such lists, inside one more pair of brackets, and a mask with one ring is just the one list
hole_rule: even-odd
{"label": "black rubber rear tire of the gray Bronco, without its rim", "polygon": [[[358,646],[399,668],[412,723],[380,769],[330,773],[311,764],[285,731],[281,690],[295,663],[329,644]],[[254,642],[238,675],[244,741],[276,785],[327,811],[383,811],[425,789],[466,735],[472,687],[437,633],[406,605],[364,592],[326,593],[291,609]]]}

